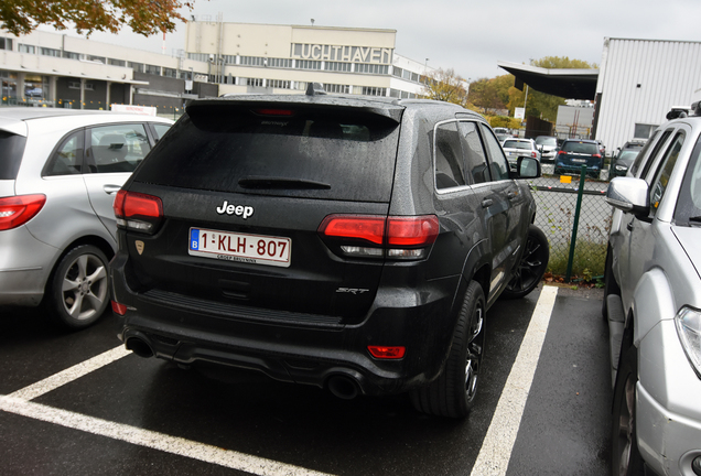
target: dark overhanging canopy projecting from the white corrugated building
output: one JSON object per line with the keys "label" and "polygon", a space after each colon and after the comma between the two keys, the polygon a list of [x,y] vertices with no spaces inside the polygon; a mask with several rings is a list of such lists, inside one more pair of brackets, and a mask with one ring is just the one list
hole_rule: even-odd
{"label": "dark overhanging canopy projecting from the white corrugated building", "polygon": [[516,76],[515,86],[529,87],[565,99],[589,99],[596,96],[598,69],[548,69],[518,63],[497,62],[497,65]]}

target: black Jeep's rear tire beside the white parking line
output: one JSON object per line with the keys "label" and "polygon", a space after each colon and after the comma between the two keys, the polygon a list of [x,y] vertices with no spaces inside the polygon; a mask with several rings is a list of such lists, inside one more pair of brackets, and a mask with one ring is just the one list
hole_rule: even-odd
{"label": "black Jeep's rear tire beside the white parking line", "polygon": [[447,361],[438,379],[411,392],[414,409],[438,416],[467,416],[479,388],[485,317],[484,291],[476,281],[471,281],[460,310]]}

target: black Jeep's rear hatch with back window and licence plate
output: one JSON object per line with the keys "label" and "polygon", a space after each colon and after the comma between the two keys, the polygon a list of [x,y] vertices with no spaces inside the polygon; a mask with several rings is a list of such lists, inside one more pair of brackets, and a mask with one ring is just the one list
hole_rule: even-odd
{"label": "black Jeep's rear hatch with back window and licence plate", "polygon": [[367,240],[341,242],[320,226],[332,215],[386,219],[401,108],[355,102],[191,104],[125,186],[163,210],[152,234],[127,231],[130,285],[251,315],[359,321],[384,257],[347,255]]}

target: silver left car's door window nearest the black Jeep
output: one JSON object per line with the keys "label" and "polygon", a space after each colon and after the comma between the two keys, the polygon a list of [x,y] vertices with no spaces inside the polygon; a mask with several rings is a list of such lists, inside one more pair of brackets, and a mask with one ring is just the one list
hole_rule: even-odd
{"label": "silver left car's door window nearest the black Jeep", "polygon": [[90,172],[133,172],[151,150],[142,123],[101,126],[88,130]]}

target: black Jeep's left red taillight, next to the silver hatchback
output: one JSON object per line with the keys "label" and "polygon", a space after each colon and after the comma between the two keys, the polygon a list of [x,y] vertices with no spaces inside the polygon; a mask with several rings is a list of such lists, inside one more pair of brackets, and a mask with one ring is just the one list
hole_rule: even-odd
{"label": "black Jeep's left red taillight, next to the silver hatchback", "polygon": [[117,226],[133,231],[153,234],[163,220],[163,203],[153,195],[120,190],[114,208]]}

